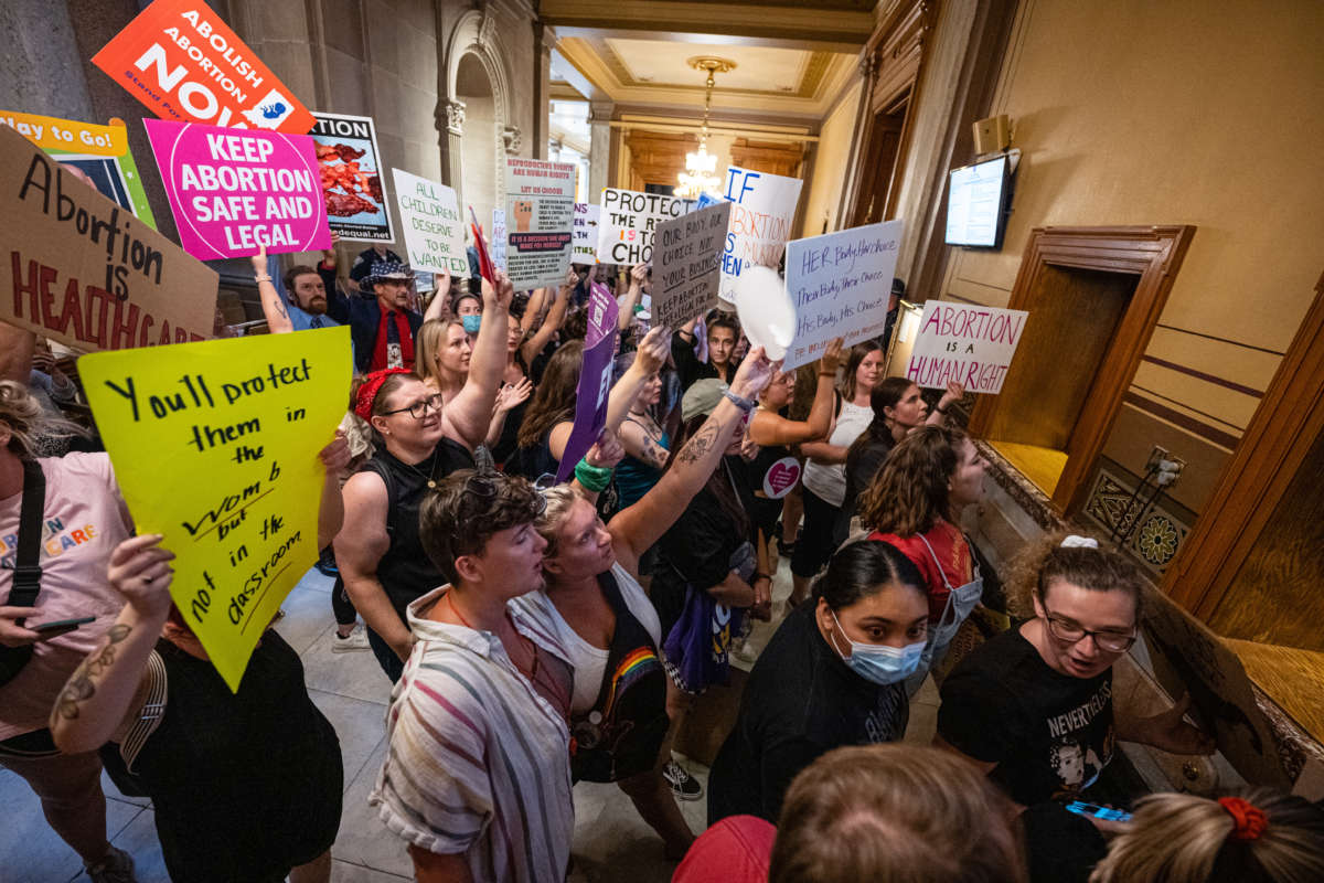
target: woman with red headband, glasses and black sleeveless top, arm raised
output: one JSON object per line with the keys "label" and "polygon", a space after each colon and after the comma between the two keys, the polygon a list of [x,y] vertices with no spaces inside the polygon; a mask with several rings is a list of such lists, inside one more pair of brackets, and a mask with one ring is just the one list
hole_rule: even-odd
{"label": "woman with red headband, glasses and black sleeveless top, arm raised", "polygon": [[473,451],[487,437],[514,295],[499,270],[495,286],[483,282],[486,320],[469,379],[451,401],[442,405],[441,393],[402,368],[368,375],[355,395],[354,410],[372,426],[376,453],[346,482],[336,565],[392,682],[409,657],[405,608],[444,581],[420,544],[418,506],[442,478],[473,466]]}

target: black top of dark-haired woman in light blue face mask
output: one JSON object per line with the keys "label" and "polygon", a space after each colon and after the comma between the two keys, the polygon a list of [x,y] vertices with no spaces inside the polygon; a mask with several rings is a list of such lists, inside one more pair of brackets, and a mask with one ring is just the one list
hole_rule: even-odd
{"label": "black top of dark-haired woman in light blue face mask", "polygon": [[824,641],[814,605],[800,605],[749,673],[736,725],[712,761],[708,823],[739,814],[776,823],[796,773],[833,748],[895,741],[908,719],[904,686],[851,671]]}

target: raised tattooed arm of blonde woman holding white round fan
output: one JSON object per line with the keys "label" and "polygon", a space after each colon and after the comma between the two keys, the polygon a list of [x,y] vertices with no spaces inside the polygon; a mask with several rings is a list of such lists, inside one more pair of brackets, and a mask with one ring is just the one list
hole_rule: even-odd
{"label": "raised tattooed arm of blonde woman holding white round fan", "polygon": [[[764,356],[763,347],[755,347],[740,363],[731,380],[731,393],[751,401],[759,397],[776,365]],[[722,454],[744,421],[744,412],[730,398],[723,398],[675,455],[671,467],[657,485],[634,506],[612,519],[608,530],[616,544],[616,553],[625,561],[638,561],[638,556],[651,547],[681,518],[694,495],[707,483]]]}

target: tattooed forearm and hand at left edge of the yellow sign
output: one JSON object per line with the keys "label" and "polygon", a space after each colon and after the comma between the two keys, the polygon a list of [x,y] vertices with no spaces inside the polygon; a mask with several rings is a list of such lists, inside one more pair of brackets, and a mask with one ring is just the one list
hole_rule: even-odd
{"label": "tattooed forearm and hand at left edge of the yellow sign", "polygon": [[158,545],[160,539],[158,534],[135,536],[110,555],[110,582],[126,604],[50,711],[50,733],[65,753],[95,751],[122,729],[128,712],[136,712],[143,667],[171,605],[169,561],[175,556]]}

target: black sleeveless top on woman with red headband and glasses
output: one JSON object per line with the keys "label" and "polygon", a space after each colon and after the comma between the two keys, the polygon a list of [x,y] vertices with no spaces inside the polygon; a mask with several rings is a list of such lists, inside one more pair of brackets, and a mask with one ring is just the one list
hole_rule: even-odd
{"label": "black sleeveless top on woman with red headband and glasses", "polygon": [[391,536],[391,545],[377,561],[377,579],[401,622],[408,622],[405,608],[409,604],[448,581],[418,540],[418,507],[428,490],[428,478],[441,481],[455,470],[473,467],[474,455],[469,449],[453,438],[442,437],[432,457],[421,463],[410,466],[383,447],[359,470],[376,473],[387,485],[387,534]]}

